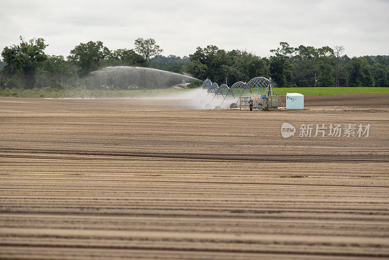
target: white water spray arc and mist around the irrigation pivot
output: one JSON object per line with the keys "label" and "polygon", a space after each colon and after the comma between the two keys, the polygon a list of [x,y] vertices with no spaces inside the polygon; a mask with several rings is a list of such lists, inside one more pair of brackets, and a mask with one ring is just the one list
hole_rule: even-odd
{"label": "white water spray arc and mist around the irrigation pivot", "polygon": [[[254,95],[257,96],[257,98],[262,98],[267,90],[270,90],[270,92],[273,90],[270,83],[271,81],[265,77],[255,77],[247,84],[239,81],[234,83],[231,87],[228,87],[226,84],[219,86],[215,82],[212,83],[209,79],[203,81],[190,75],[153,68],[129,66],[106,67],[90,73],[88,76],[84,77],[80,83],[87,89],[159,90],[171,88],[179,83],[185,85],[186,82],[191,84],[199,84],[202,82],[202,85],[196,89],[183,90],[182,92],[179,91],[179,93],[165,92],[164,95],[161,93],[160,98],[164,100],[185,100],[187,104],[190,104],[189,106],[185,106],[186,108],[219,109],[221,107],[236,107],[237,100],[239,100],[241,96]],[[270,95],[272,94],[270,93]]]}

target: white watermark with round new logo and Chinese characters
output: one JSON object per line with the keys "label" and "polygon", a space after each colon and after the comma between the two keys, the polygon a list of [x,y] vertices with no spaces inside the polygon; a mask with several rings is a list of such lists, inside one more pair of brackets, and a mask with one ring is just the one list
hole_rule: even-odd
{"label": "white watermark with round new logo and Chinese characters", "polygon": [[[370,124],[301,124],[299,137],[368,137]],[[283,123],[281,126],[281,135],[288,138],[294,135],[296,128],[289,124]]]}

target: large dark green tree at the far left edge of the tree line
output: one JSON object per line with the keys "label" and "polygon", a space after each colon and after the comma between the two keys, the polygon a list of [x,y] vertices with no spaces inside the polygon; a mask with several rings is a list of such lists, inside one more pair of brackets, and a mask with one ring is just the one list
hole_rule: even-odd
{"label": "large dark green tree at the far left edge of the tree line", "polygon": [[9,85],[23,84],[27,88],[33,88],[36,81],[36,70],[47,59],[44,50],[49,45],[45,44],[43,38],[32,38],[25,41],[20,36],[19,39],[19,45],[5,47],[1,52],[6,63],[2,72],[12,79]]}

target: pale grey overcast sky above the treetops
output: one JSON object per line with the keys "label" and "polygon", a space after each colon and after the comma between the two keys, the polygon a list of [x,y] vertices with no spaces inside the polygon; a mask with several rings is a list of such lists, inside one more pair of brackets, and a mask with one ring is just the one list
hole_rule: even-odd
{"label": "pale grey overcast sky above the treetops", "polygon": [[80,42],[132,49],[143,37],[164,56],[211,44],[268,56],[280,41],[389,55],[388,13],[389,0],[0,0],[0,48],[43,37],[47,54],[66,57]]}

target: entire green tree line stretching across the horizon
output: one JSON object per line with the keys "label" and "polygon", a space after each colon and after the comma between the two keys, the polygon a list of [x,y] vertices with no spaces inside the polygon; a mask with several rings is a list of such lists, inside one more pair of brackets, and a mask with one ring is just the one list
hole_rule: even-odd
{"label": "entire green tree line stretching across the horizon", "polygon": [[[151,67],[220,84],[248,81],[255,76],[271,77],[278,87],[388,87],[388,56],[342,56],[343,46],[291,47],[280,42],[269,57],[246,50],[225,51],[217,46],[197,47],[184,57],[161,56],[152,38],[135,40],[134,49],[109,50],[102,41],[75,46],[70,55],[45,54],[43,38],[5,47],[0,60],[1,88],[83,87],[82,78],[108,66]],[[106,87],[106,86],[105,86]],[[101,86],[96,86],[101,88]],[[152,86],[150,86],[152,88]]]}

